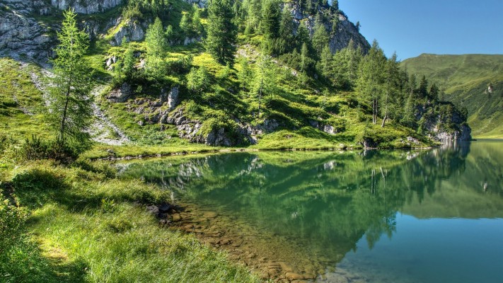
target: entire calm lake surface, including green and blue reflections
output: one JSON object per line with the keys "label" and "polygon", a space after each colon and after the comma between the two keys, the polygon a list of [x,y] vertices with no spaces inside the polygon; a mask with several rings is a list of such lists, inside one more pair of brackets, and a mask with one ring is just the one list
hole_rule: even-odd
{"label": "entire calm lake surface, including green and blue reflections", "polygon": [[[503,142],[125,163],[321,282],[503,282]],[[216,222],[216,225],[226,224]],[[259,250],[260,253],[260,250]],[[277,258],[277,259],[276,259]]]}

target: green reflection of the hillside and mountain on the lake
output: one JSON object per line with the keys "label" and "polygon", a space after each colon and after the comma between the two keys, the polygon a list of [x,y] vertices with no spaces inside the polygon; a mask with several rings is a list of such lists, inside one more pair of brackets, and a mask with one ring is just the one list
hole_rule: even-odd
{"label": "green reflection of the hillside and mountain on the lake", "polygon": [[[499,144],[501,146],[501,144]],[[259,152],[127,165],[180,199],[209,207],[338,262],[363,236],[395,233],[397,212],[417,218],[503,218],[503,149]]]}

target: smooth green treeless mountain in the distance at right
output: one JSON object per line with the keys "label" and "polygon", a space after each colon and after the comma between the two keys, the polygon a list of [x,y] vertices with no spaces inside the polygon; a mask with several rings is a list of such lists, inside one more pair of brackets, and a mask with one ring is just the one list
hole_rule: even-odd
{"label": "smooth green treeless mountain in the distance at right", "polygon": [[437,83],[442,99],[466,107],[473,137],[503,138],[503,55],[421,54],[401,66]]}

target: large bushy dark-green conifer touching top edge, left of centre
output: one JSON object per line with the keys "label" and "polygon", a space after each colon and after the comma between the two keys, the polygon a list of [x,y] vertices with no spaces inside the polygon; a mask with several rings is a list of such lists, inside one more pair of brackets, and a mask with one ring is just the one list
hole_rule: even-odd
{"label": "large bushy dark-green conifer touching top edge, left of centre", "polygon": [[206,48],[222,64],[233,64],[237,27],[229,0],[212,0],[208,8]]}

